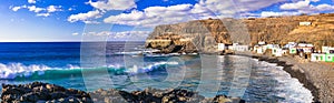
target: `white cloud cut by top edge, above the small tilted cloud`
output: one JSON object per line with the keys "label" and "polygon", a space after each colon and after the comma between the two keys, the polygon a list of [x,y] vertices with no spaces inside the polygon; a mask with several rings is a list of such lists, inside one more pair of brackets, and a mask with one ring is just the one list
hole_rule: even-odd
{"label": "white cloud cut by top edge, above the small tilted cloud", "polygon": [[135,0],[99,0],[96,2],[89,0],[88,3],[99,10],[127,10],[137,7]]}

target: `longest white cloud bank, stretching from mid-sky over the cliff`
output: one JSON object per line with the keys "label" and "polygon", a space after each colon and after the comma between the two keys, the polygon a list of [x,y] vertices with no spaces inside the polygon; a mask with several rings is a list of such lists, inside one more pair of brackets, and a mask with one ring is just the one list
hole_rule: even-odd
{"label": "longest white cloud bank, stretching from mid-sky over the cliff", "polygon": [[196,4],[177,4],[170,7],[148,7],[144,11],[110,16],[106,23],[155,27],[185,22],[189,20],[235,17],[239,12],[258,10],[286,0],[200,0]]}

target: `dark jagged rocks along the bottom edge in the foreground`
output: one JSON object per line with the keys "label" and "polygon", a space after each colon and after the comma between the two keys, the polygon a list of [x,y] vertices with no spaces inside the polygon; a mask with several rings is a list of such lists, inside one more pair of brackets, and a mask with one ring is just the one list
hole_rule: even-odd
{"label": "dark jagged rocks along the bottom edge in the foreground", "polygon": [[59,85],[33,82],[29,84],[2,84],[1,103],[244,103],[240,99],[216,95],[206,99],[197,92],[180,89],[126,92],[99,89],[85,92]]}

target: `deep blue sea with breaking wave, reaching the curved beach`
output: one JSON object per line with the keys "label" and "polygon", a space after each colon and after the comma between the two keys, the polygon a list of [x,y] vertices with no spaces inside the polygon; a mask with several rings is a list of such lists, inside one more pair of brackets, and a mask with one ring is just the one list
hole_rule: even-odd
{"label": "deep blue sea with breaking wave, reaching the curved beach", "polygon": [[312,102],[311,91],[276,64],[238,55],[143,54],[144,42],[0,43],[0,83],[41,81],[94,91],[187,89],[247,102]]}

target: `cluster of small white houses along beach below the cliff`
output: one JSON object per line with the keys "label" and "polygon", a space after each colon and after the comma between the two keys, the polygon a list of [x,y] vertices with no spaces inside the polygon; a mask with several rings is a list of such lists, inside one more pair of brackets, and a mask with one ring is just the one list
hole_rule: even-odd
{"label": "cluster of small white houses along beach below the cliff", "polygon": [[322,47],[322,50],[315,51],[311,43],[288,42],[281,47],[279,44],[266,44],[266,42],[258,42],[254,47],[233,43],[226,45],[218,43],[218,51],[253,51],[257,54],[271,54],[273,56],[298,55],[313,62],[334,62],[334,48]]}

